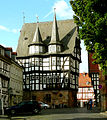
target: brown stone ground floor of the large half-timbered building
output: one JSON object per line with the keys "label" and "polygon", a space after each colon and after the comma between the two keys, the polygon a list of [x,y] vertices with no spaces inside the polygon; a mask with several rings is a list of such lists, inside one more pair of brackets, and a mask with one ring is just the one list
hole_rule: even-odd
{"label": "brown stone ground floor of the large half-timbered building", "polygon": [[76,90],[24,91],[24,100],[36,100],[47,103],[51,108],[67,108],[77,106]]}

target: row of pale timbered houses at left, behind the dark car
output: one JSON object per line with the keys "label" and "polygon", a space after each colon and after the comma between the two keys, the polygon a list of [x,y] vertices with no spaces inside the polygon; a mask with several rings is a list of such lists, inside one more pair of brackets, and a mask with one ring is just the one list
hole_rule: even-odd
{"label": "row of pale timbered houses at left, behind the dark car", "polygon": [[0,113],[22,101],[23,68],[15,61],[16,52],[0,45]]}

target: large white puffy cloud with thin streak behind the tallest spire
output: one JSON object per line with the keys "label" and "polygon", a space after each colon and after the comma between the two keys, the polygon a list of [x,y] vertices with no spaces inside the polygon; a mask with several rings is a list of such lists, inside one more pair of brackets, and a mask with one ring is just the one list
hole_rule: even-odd
{"label": "large white puffy cloud with thin streak behind the tallest spire", "polygon": [[54,3],[54,5],[52,6],[51,11],[45,15],[44,18],[48,17],[54,10],[54,8],[56,8],[56,14],[59,18],[61,19],[71,19],[73,18],[73,10],[71,8],[70,5],[68,5],[64,0],[58,0]]}

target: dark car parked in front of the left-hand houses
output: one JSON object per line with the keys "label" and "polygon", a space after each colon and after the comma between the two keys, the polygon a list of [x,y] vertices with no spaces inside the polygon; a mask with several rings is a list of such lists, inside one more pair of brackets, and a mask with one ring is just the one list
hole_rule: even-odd
{"label": "dark car parked in front of the left-hand houses", "polygon": [[15,106],[6,108],[6,114],[15,115],[22,113],[34,113],[37,114],[42,110],[41,104],[37,101],[23,101]]}

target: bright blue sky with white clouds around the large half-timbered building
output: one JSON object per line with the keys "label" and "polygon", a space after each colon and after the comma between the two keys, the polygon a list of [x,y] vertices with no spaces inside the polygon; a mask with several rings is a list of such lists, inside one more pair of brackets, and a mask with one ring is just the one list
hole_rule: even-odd
{"label": "bright blue sky with white clouds around the large half-timbered building", "polygon": [[[16,51],[20,30],[25,23],[53,21],[56,8],[57,20],[73,19],[69,0],[0,0],[0,44]],[[88,72],[87,52],[82,47],[80,72]]]}

